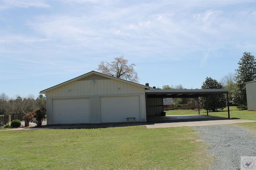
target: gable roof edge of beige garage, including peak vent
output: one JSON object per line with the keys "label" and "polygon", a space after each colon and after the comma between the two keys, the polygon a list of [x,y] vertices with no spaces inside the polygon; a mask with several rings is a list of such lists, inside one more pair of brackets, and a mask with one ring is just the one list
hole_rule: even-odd
{"label": "gable roof edge of beige garage, including peak vent", "polygon": [[121,81],[121,82],[125,82],[125,83],[128,83],[128,84],[132,84],[132,85],[135,85],[135,86],[140,86],[140,87],[143,87],[143,88],[146,88],[146,89],[149,89],[148,86],[144,86],[142,84],[138,84],[138,83],[134,83],[134,82],[130,82],[130,81],[127,81],[127,80],[123,80],[121,78],[116,78],[116,77],[113,77],[113,76],[108,76],[106,74],[102,74],[100,72],[96,72],[96,71],[91,71],[91,72],[88,72],[86,74],[83,74],[81,76],[78,76],[76,78],[73,78],[71,80],[68,80],[66,82],[63,82],[61,84],[58,84],[56,86],[53,86],[53,87],[50,87],[50,88],[47,88],[45,90],[42,90],[41,92],[39,92],[40,94],[46,94],[46,92],[48,92],[49,90],[52,90],[54,88],[58,88],[60,86],[63,86],[65,84],[68,84],[70,82],[73,82],[73,81],[79,81],[79,80],[99,80],[99,79],[113,79],[113,80],[118,80],[118,81]]}

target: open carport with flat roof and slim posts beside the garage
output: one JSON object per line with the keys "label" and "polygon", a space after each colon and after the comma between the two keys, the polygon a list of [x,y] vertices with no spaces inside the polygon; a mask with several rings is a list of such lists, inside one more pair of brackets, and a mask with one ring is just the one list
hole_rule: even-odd
{"label": "open carport with flat roof and slim posts beside the garage", "polygon": [[[207,97],[210,94],[226,94],[227,95],[227,106],[228,106],[228,118],[229,113],[229,100],[228,100],[228,89],[149,89],[145,90],[146,94],[146,111],[151,113],[152,110],[160,111],[161,101],[163,98],[199,98]],[[198,100],[199,101],[199,100]],[[199,102],[198,102],[199,106]],[[152,109],[153,108],[153,109]],[[200,109],[198,107],[198,114]],[[208,115],[208,111],[207,111]]]}

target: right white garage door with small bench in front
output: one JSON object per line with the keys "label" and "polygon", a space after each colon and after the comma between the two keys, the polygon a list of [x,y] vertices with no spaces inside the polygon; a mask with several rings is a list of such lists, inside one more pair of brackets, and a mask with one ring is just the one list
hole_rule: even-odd
{"label": "right white garage door with small bench in front", "polygon": [[100,110],[102,123],[140,121],[140,96],[101,97]]}

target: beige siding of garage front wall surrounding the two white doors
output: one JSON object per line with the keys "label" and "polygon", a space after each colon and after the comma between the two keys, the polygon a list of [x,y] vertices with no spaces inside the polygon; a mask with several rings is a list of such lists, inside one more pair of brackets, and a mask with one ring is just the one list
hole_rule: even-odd
{"label": "beige siding of garage front wall surrounding the two white doors", "polygon": [[[46,91],[47,124],[54,124],[53,100],[56,99],[90,99],[90,123],[101,123],[101,97],[139,96],[139,116],[136,121],[146,121],[145,88],[136,84],[126,83],[115,79],[75,80]],[[124,121],[126,119],[124,118]],[[113,119],[113,122],[115,119]],[[88,123],[88,122],[86,122]]]}

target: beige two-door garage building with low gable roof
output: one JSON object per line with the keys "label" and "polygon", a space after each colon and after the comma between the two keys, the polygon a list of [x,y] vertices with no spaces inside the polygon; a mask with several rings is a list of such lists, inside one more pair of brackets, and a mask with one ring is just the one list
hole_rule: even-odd
{"label": "beige two-door garage building with low gable roof", "polygon": [[91,71],[40,93],[46,94],[48,125],[145,122],[145,89],[149,87]]}

